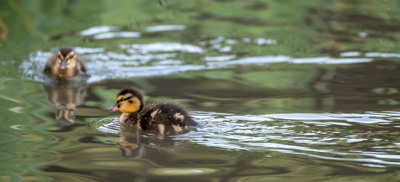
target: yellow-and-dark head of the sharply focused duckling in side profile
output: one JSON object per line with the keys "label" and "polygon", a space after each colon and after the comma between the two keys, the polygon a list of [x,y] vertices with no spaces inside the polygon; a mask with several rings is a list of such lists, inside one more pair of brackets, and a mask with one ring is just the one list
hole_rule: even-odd
{"label": "yellow-and-dark head of the sharply focused duckling in side profile", "polygon": [[129,87],[124,88],[117,95],[117,103],[107,109],[107,112],[120,110],[124,113],[134,113],[142,110],[143,95],[139,89]]}

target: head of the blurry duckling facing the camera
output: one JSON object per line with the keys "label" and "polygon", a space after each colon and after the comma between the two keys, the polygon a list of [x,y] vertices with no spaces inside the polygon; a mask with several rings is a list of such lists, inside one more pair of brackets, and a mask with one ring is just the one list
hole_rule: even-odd
{"label": "head of the blurry duckling facing the camera", "polygon": [[70,47],[60,48],[57,52],[56,66],[61,70],[72,69],[76,65],[76,54]]}

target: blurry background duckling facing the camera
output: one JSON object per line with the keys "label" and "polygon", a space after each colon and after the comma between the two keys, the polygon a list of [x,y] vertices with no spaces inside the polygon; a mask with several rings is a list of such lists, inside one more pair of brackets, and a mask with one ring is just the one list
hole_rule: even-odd
{"label": "blurry background duckling facing the camera", "polygon": [[69,79],[86,73],[86,63],[74,49],[63,47],[47,60],[44,72],[56,79]]}

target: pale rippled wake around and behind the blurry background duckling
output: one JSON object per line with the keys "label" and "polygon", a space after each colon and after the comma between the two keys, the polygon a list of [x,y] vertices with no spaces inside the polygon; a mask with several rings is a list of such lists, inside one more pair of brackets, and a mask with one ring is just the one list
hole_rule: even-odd
{"label": "pale rippled wake around and behind the blurry background duckling", "polygon": [[[103,30],[104,29],[104,30]],[[88,29],[90,30],[90,29]],[[140,36],[139,32],[103,32],[112,28],[99,28],[95,31],[85,32],[85,35],[95,33],[94,38],[113,38],[125,36]],[[86,31],[86,30],[85,30]],[[225,39],[217,38],[213,41],[222,42]],[[210,40],[210,42],[212,42]],[[233,43],[234,40],[228,42]],[[213,49],[219,52],[230,52],[232,47],[222,47],[213,44]],[[215,48],[214,48],[215,47]],[[147,44],[120,44],[119,51],[108,52],[105,48],[75,48],[87,63],[88,82],[102,81],[110,78],[129,78],[138,76],[160,76],[193,70],[211,70],[226,68],[235,65],[268,64],[268,63],[293,63],[293,64],[350,64],[370,62],[369,58],[292,58],[290,56],[260,56],[237,59],[236,55],[208,57],[205,54],[207,46],[199,47],[192,44],[179,42],[154,42]],[[55,49],[56,50],[56,49]],[[55,51],[54,50],[54,51]],[[191,54],[199,57],[196,64],[192,60],[182,60],[180,54]],[[29,59],[24,60],[19,66],[23,79],[41,81],[46,80],[43,73],[44,66],[51,52],[38,51],[31,53]],[[183,57],[184,58],[184,57]]]}

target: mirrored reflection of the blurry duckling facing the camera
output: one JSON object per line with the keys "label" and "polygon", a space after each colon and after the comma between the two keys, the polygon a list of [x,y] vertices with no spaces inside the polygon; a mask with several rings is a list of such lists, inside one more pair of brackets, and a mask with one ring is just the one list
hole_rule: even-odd
{"label": "mirrored reflection of the blurry duckling facing the camera", "polygon": [[47,101],[56,107],[55,118],[62,126],[74,124],[76,107],[85,101],[86,82],[53,82],[45,83],[44,87],[47,92]]}

